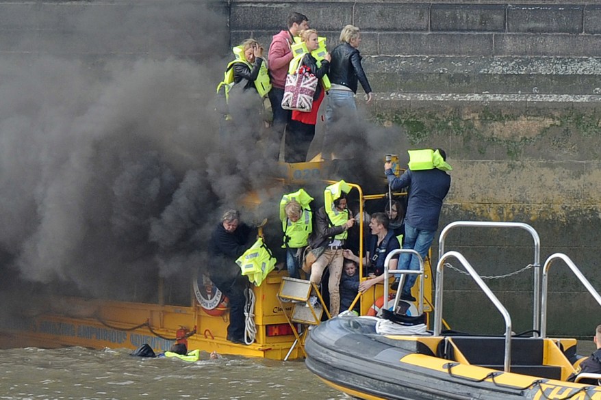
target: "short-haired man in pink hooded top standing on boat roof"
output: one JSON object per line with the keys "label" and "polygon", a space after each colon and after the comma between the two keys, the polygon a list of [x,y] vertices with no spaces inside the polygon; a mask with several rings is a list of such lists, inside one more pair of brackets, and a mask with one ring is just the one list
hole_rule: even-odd
{"label": "short-haired man in pink hooded top standing on boat roof", "polygon": [[268,55],[268,70],[272,85],[269,100],[273,111],[274,131],[279,135],[279,139],[286,124],[292,118],[292,111],[282,108],[288,66],[294,58],[291,46],[294,44],[294,36],[298,36],[303,29],[309,29],[309,18],[300,12],[293,12],[288,16],[287,28],[273,36]]}

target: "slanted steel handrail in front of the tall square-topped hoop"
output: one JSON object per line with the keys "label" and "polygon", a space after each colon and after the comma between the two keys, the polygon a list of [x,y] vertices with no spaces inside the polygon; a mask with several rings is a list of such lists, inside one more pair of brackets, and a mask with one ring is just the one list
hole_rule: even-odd
{"label": "slanted steel handrail in front of the tall square-topped hoop", "polygon": [[438,265],[436,266],[436,298],[435,298],[435,307],[434,307],[434,336],[440,336],[442,332],[442,286],[443,286],[443,271],[444,271],[444,262],[449,257],[457,258],[457,261],[463,265],[465,271],[468,271],[468,274],[474,279],[476,284],[480,286],[480,289],[485,293],[485,295],[490,299],[490,301],[494,304],[494,306],[499,310],[503,319],[505,320],[505,358],[503,362],[503,369],[506,372],[509,372],[511,366],[511,316],[507,311],[507,308],[501,304],[499,299],[492,293],[487,284],[484,283],[482,278],[476,273],[472,265],[468,263],[468,260],[459,253],[459,252],[447,252],[440,257],[438,261]]}

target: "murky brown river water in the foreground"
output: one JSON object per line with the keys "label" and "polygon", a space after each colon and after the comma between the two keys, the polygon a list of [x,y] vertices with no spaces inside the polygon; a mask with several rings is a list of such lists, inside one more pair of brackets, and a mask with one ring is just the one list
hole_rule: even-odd
{"label": "murky brown river water in the foreground", "polygon": [[129,349],[0,350],[0,400],[348,399],[302,361],[237,356],[195,363]]}

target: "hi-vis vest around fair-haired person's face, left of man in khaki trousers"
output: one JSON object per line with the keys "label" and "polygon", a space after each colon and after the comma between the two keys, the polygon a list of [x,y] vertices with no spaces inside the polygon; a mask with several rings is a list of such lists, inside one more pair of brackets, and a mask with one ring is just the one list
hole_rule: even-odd
{"label": "hi-vis vest around fair-haired person's face, left of man in khaki trousers", "polygon": [[[303,211],[296,222],[288,219],[285,206],[288,202],[295,200],[300,204]],[[280,219],[282,231],[284,232],[284,244],[282,248],[303,248],[309,244],[309,235],[313,231],[313,221],[309,203],[314,199],[307,194],[305,189],[298,189],[294,193],[285,194],[280,201]]]}

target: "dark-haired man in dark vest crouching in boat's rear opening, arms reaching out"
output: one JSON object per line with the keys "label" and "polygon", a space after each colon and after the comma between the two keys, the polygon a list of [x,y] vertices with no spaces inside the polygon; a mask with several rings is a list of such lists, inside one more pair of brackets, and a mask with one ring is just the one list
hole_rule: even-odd
{"label": "dark-haired man in dark vest crouching in boat's rear opening, arms reaching out", "polygon": [[[368,272],[373,274],[374,278],[364,280],[359,284],[361,293],[370,289],[374,284],[384,281],[384,261],[389,252],[400,249],[398,239],[394,235],[394,230],[388,229],[389,219],[385,213],[373,213],[370,219],[370,229],[372,236],[370,237],[368,252],[366,258],[363,259],[368,267]],[[359,256],[355,256],[350,250],[342,252],[345,258],[359,263]],[[398,264],[398,255],[394,256],[388,265],[389,269],[396,269]]]}

